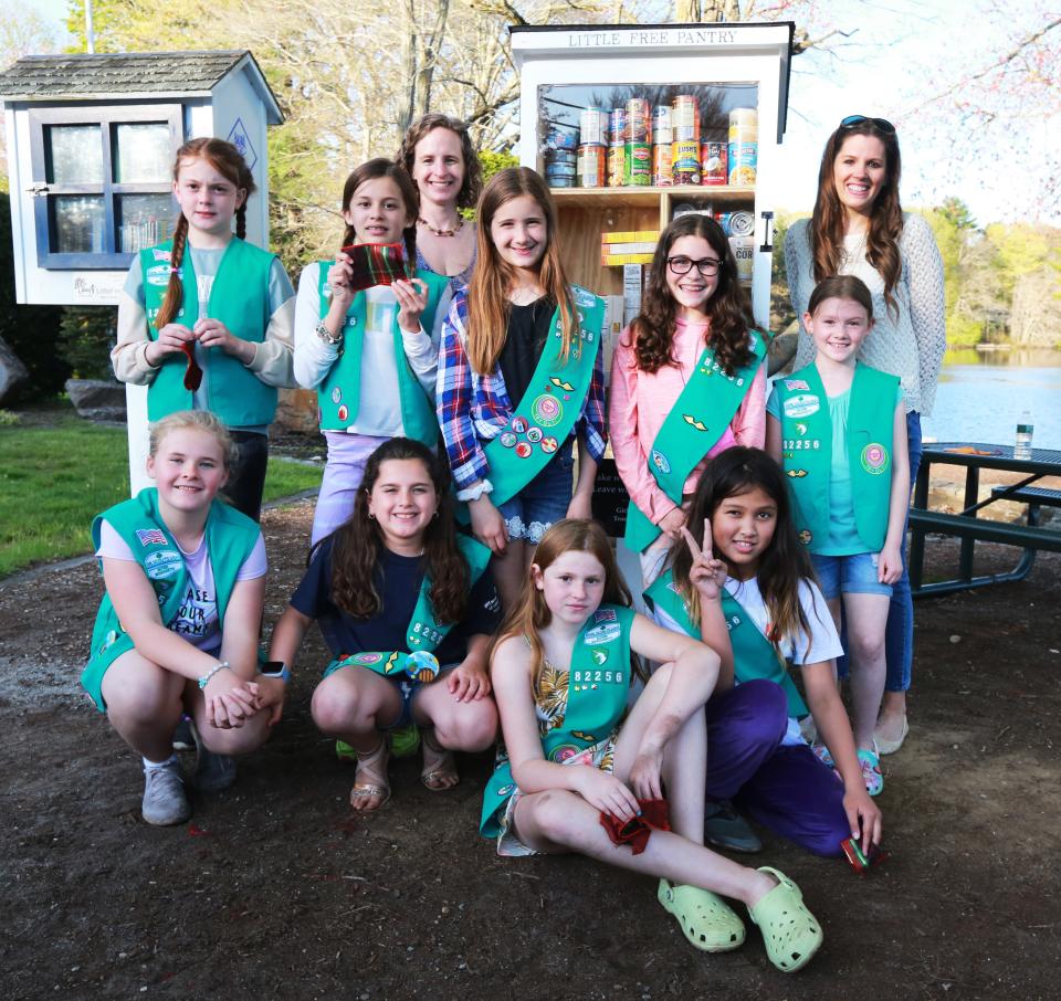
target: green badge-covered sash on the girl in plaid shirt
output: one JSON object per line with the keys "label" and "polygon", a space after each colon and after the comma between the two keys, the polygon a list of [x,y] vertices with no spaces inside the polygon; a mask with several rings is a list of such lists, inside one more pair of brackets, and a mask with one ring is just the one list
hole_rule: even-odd
{"label": "green badge-covered sash on the girl in plaid shirt", "polygon": [[[560,310],[553,314],[549,336],[530,378],[530,384],[502,432],[486,444],[483,454],[490,466],[495,505],[515,497],[542,470],[571,433],[582,410],[600,350],[605,301],[578,285],[571,286],[577,336],[571,339],[567,361],[560,358]],[[556,352],[550,348],[556,344]],[[471,516],[462,505],[458,519]]]}

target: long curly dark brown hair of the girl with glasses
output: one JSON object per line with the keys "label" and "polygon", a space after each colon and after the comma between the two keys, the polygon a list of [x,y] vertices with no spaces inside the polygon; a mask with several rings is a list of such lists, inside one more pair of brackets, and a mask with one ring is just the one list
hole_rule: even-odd
{"label": "long curly dark brown hair of the girl with glasses", "polygon": [[645,372],[659,371],[664,365],[674,365],[674,315],[676,304],[666,285],[666,259],[674,242],[682,236],[701,236],[718,255],[718,286],[707,301],[710,320],[704,346],[714,349],[718,363],[727,376],[747,365],[753,357],[748,329],[754,326],[748,297],[737,278],[737,262],[722,226],[708,215],[680,215],[660,235],[652,257],[649,284],[641,301],[641,312],[631,325],[638,368]]}

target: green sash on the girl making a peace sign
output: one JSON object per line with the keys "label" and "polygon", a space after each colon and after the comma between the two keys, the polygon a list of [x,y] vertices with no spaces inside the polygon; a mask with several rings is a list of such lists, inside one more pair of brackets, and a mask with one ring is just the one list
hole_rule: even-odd
{"label": "green sash on the girl making a peace sign", "polygon": [[[651,605],[666,612],[684,632],[694,640],[701,636],[700,626],[689,614],[689,605],[674,583],[674,572],[668,569],[661,573],[644,592]],[[729,630],[729,645],[733,647],[733,674],[737,682],[765,678],[785,689],[788,699],[789,716],[806,716],[807,706],[792,682],[788,667],[778,655],[777,647],[770,643],[744,607],[728,591],[722,591],[722,613]]]}

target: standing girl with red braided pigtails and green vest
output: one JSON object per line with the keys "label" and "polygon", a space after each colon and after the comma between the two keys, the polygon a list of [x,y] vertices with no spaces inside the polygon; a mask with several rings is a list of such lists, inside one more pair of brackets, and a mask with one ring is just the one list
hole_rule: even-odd
{"label": "standing girl with red braided pigtails and green vest", "polygon": [[133,260],[111,360],[120,381],[148,387],[151,421],[178,410],[221,419],[239,451],[228,497],[256,519],[276,388],[294,384],[295,303],[276,255],[244,240],[254,189],[231,143],[191,139],[177,150],[180,215],[171,241]]}

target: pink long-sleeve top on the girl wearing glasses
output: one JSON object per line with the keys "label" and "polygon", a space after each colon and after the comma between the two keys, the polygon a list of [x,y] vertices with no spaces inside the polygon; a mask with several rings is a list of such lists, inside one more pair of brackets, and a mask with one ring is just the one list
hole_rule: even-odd
{"label": "pink long-sleeve top on the girl wearing glasses", "polygon": [[[659,524],[662,517],[674,509],[675,504],[660,489],[655,477],[649,472],[648,456],[663,421],[700,361],[707,327],[705,323],[676,320],[671,355],[677,363],[664,365],[655,372],[638,369],[633,337],[627,327],[619,338],[611,360],[611,391],[608,403],[611,450],[630,499],[653,524]],[[696,489],[700,474],[713,455],[734,445],[761,449],[765,441],[766,365],[761,365],[729,426],[689,474],[682,493],[689,495]]]}

